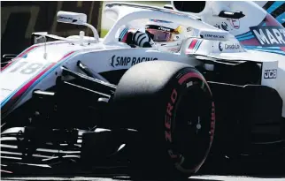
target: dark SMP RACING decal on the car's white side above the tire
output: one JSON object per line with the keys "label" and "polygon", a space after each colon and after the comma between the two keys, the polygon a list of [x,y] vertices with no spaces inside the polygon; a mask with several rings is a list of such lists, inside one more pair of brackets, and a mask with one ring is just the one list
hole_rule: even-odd
{"label": "dark SMP RACING decal on the car's white side above the tire", "polygon": [[147,61],[158,60],[157,57],[119,57],[119,56],[112,56],[110,59],[110,65],[112,67],[115,66],[133,66],[135,64]]}

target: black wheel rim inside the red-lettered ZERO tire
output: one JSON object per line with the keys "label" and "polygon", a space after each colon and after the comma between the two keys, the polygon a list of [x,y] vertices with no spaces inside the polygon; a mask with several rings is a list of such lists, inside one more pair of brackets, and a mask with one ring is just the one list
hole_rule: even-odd
{"label": "black wheel rim inside the red-lettered ZERO tire", "polygon": [[212,142],[212,101],[208,89],[202,86],[204,82],[198,80],[181,94],[174,115],[173,147],[178,155],[175,166],[182,172],[196,172]]}

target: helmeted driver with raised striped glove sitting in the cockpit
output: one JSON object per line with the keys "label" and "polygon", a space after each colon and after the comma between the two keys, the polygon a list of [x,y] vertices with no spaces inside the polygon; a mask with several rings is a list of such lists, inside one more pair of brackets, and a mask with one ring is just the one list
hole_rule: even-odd
{"label": "helmeted driver with raised striped glove sitting in the cockpit", "polygon": [[139,29],[125,28],[119,34],[119,41],[135,47],[151,48],[178,52],[183,40],[183,27],[166,20],[150,19],[144,32]]}

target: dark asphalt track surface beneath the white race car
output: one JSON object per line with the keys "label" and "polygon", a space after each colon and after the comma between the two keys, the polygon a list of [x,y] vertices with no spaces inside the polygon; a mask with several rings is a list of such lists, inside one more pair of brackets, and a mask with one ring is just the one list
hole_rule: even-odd
{"label": "dark asphalt track surface beneath the white race car", "polygon": [[[207,159],[196,175],[189,177],[186,181],[285,181],[284,155],[257,159],[238,158],[235,162],[228,162],[227,160],[227,163],[226,160]],[[124,172],[61,177],[2,177],[1,180],[166,181],[165,179],[154,179],[147,173],[144,174],[143,178],[127,177]]]}

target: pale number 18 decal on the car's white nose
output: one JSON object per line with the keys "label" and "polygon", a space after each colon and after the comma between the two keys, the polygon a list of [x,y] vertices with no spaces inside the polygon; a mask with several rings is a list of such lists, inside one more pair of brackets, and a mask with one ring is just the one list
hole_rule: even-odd
{"label": "pale number 18 decal on the car's white nose", "polygon": [[32,74],[44,66],[42,63],[29,63],[29,62],[19,62],[16,63],[15,68],[10,72],[19,72],[22,74]]}

